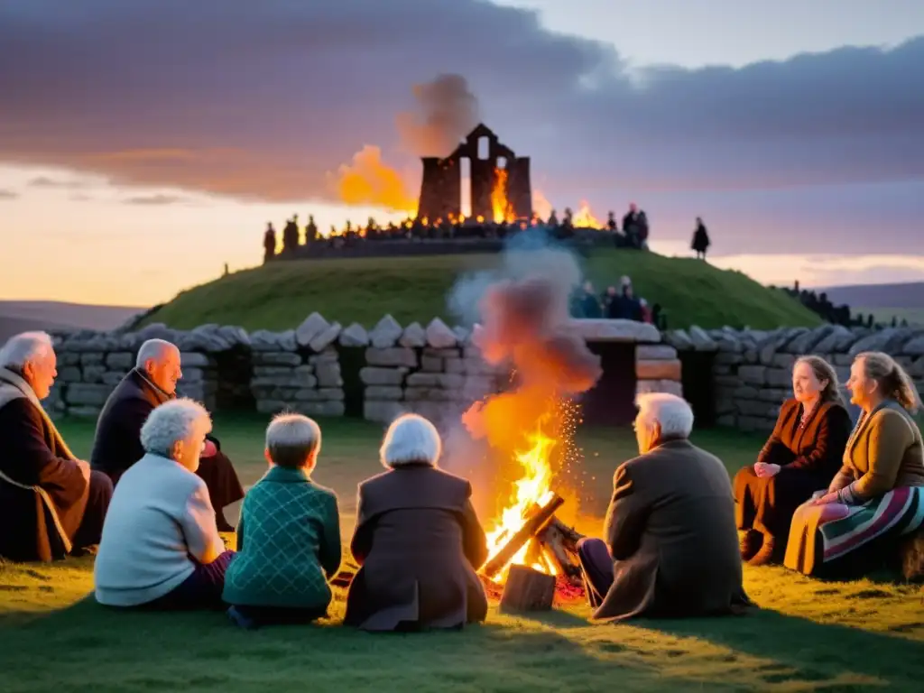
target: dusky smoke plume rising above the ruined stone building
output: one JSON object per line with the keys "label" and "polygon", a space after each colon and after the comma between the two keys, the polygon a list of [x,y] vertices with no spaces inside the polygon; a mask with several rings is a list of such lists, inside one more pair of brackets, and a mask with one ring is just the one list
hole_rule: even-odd
{"label": "dusky smoke plume rising above the ruined stone building", "polygon": [[448,156],[478,125],[478,98],[461,75],[444,74],[414,85],[413,111],[397,116],[405,146],[418,156]]}

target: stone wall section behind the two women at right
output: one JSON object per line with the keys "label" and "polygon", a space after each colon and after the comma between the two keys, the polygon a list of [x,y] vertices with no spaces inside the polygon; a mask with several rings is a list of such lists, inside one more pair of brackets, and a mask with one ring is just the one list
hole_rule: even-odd
{"label": "stone wall section behind the two women at right", "polygon": [[715,350],[712,368],[717,422],[744,431],[772,430],[780,405],[793,396],[793,365],[805,354],[816,354],[831,363],[843,388],[857,354],[883,351],[906,368],[918,392],[924,390],[924,330],[920,328],[871,331],[827,324],[815,329],[772,331],[725,327],[709,333],[691,328],[688,334],[675,331],[667,339],[681,350],[685,340],[688,348]]}

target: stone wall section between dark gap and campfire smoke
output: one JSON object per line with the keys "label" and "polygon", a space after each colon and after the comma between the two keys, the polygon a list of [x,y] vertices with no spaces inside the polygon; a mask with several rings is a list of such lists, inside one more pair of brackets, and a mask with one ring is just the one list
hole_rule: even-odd
{"label": "stone wall section between dark gap and campfire smoke", "polygon": [[430,419],[457,417],[472,402],[497,392],[498,372],[467,344],[468,331],[434,318],[426,328],[402,328],[386,315],[369,334],[363,416],[388,422],[414,412]]}

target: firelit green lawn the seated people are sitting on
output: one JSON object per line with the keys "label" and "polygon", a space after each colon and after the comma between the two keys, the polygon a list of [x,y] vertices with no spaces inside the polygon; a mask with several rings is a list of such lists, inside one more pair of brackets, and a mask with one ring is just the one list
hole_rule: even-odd
{"label": "firelit green lawn the seated people are sitting on", "polygon": [[[264,469],[256,418],[222,418],[216,432],[247,482]],[[317,478],[339,493],[345,532],[355,484],[379,471],[382,428],[323,422]],[[86,455],[92,424],[61,426]],[[730,471],[760,438],[700,432]],[[616,464],[634,454],[628,431],[585,431],[579,529],[599,532]],[[348,537],[349,535],[346,534]],[[761,610],[745,617],[590,625],[581,605],[515,618],[495,608],[461,633],[373,636],[337,623],[244,632],[223,614],[118,614],[92,602],[90,559],[0,565],[0,690],[597,691],[919,690],[924,610],[914,587],[825,583],[782,568],[746,567]]]}

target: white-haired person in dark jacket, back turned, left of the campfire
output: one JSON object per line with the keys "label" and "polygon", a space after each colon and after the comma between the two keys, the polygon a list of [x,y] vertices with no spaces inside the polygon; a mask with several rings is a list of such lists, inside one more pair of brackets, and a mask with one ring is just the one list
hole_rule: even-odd
{"label": "white-haired person in dark jacket, back turned, left of the campfire", "polygon": [[471,484],[436,467],[433,424],[406,414],[381,449],[388,471],[359,484],[350,549],[359,573],[346,599],[346,625],[371,631],[461,628],[488,612],[475,569],[488,556],[471,504]]}

